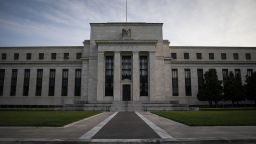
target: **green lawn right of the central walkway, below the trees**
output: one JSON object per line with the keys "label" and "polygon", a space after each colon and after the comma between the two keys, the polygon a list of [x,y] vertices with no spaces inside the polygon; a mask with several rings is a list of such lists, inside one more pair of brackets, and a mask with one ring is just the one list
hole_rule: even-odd
{"label": "green lawn right of the central walkway, below the trees", "polygon": [[154,112],[190,126],[256,126],[256,110]]}

